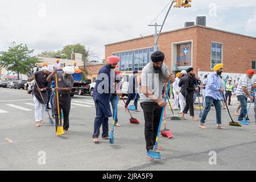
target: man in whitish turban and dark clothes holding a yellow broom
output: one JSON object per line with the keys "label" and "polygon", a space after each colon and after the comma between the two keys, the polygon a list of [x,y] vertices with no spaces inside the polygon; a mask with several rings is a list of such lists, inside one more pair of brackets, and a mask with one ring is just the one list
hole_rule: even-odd
{"label": "man in whitish turban and dark clothes holding a yellow broom", "polygon": [[54,110],[54,115],[55,115],[55,125],[56,125],[56,131],[57,131],[57,126],[59,125],[59,112],[57,108],[57,93],[58,91],[58,97],[59,97],[59,111],[63,111],[63,129],[64,133],[68,133],[69,129],[69,112],[71,109],[71,96],[70,92],[71,89],[73,88],[73,83],[74,83],[74,77],[72,76],[73,73],[75,73],[75,70],[72,67],[64,67],[63,71],[57,72],[55,71],[48,76],[47,81],[52,82],[55,81],[55,74],[57,73],[57,83],[55,85],[54,91],[55,95],[53,96],[53,110]]}

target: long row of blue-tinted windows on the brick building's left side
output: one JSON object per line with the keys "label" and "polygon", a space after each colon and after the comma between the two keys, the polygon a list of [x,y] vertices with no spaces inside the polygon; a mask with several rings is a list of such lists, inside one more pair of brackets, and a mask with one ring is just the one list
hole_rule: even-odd
{"label": "long row of blue-tinted windows on the brick building's left side", "polygon": [[118,63],[118,69],[120,71],[142,71],[150,61],[153,52],[154,48],[146,48],[135,51],[113,53],[113,55],[120,57],[120,62]]}

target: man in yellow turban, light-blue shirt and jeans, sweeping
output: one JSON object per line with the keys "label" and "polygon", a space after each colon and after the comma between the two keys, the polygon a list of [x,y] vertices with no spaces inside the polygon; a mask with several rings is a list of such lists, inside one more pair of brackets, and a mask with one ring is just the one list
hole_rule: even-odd
{"label": "man in yellow turban, light-blue shirt and jeans, sweeping", "polygon": [[217,128],[225,130],[225,127],[221,126],[221,99],[224,93],[222,86],[221,73],[223,72],[223,64],[217,64],[213,68],[214,72],[207,76],[207,85],[205,86],[205,109],[200,121],[200,128],[207,129],[205,119],[210,111],[212,104],[216,109],[216,122]]}

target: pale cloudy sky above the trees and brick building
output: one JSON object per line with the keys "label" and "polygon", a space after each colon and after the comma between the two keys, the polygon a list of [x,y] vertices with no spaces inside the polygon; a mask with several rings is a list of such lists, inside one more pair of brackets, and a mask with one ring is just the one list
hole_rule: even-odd
{"label": "pale cloudy sky above the trees and brick building", "polygon": [[[1,0],[0,51],[12,42],[27,44],[34,55],[81,43],[105,57],[105,44],[154,34],[148,24],[170,0]],[[232,2],[232,3],[230,3]],[[256,37],[256,0],[192,0],[191,8],[172,8],[163,31],[207,16],[207,26]],[[168,9],[168,8],[167,8]],[[167,9],[156,20],[162,24]]]}

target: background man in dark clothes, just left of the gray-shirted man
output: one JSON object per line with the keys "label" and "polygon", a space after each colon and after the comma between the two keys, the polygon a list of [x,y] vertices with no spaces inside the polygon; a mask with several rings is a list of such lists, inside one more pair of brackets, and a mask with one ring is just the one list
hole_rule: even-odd
{"label": "background man in dark clothes, just left of the gray-shirted man", "polygon": [[[129,79],[128,87],[128,99],[126,101],[126,106],[129,106],[131,100],[134,99],[135,111],[138,110],[138,100],[139,100],[139,90],[138,90],[138,81],[137,81],[138,71],[133,72],[133,77]],[[127,109],[125,106],[125,109]]]}

